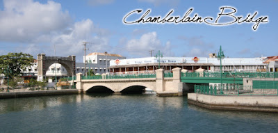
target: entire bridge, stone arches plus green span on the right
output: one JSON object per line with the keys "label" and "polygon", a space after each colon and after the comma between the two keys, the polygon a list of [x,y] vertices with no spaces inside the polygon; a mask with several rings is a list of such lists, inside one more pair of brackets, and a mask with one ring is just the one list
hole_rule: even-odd
{"label": "entire bridge, stone arches plus green span on the right", "polygon": [[[272,80],[278,77],[278,72],[223,72],[222,83],[253,84],[253,81]],[[71,78],[72,79],[72,78]],[[139,75],[96,75],[85,77],[76,74],[73,82],[81,92],[106,89],[111,93],[124,93],[126,90],[150,88],[157,95],[183,95],[195,84],[220,83],[220,72],[181,72],[174,68],[172,72],[158,69],[153,73]]]}

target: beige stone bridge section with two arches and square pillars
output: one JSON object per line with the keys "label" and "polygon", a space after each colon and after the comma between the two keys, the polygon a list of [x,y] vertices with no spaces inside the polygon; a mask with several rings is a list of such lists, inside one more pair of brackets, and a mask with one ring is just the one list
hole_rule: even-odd
{"label": "beige stone bridge section with two arches and square pillars", "polygon": [[157,95],[183,95],[183,83],[181,82],[181,68],[173,69],[173,77],[164,77],[164,70],[156,70],[155,77],[129,78],[129,79],[82,79],[82,74],[76,74],[76,89],[86,92],[96,86],[109,88],[114,93],[121,93],[132,86],[144,86],[152,89]]}

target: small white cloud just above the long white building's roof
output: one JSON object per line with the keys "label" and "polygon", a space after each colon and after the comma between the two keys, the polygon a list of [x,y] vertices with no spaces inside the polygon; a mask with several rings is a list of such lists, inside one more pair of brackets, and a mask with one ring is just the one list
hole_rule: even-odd
{"label": "small white cloud just above the long white building's roof", "polygon": [[126,42],[126,50],[133,56],[149,56],[149,50],[160,49],[165,56],[170,56],[172,53],[171,43],[168,41],[163,45],[158,39],[156,32],[143,34],[140,39],[132,39]]}

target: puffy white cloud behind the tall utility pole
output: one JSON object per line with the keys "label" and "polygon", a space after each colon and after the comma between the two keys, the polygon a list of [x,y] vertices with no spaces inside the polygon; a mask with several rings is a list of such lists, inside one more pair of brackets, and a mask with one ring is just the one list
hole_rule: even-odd
{"label": "puffy white cloud behind the tall utility pole", "polygon": [[[51,41],[56,45],[56,55],[65,56],[74,54],[79,56],[78,61],[81,61],[83,56],[83,42],[89,42],[87,45],[88,52],[102,52],[107,49],[109,38],[108,31],[97,28],[92,20],[86,19],[81,22],[76,22],[68,33],[60,34],[54,37]],[[95,35],[95,36],[94,36]]]}

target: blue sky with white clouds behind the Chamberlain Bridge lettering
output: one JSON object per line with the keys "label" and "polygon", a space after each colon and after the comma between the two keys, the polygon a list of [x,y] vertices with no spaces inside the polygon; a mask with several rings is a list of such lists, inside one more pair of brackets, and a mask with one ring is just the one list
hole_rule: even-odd
{"label": "blue sky with white clouds behind the Chamberlain Bridge lettering", "polygon": [[[202,23],[139,23],[124,24],[133,10],[142,10],[127,17],[134,22],[147,11],[147,17],[164,17],[170,10],[183,17],[190,8],[199,17],[213,17],[221,7],[236,8],[236,17],[248,14],[268,17],[254,31],[254,22],[226,26]],[[278,0],[265,1],[202,1],[202,0],[2,0],[0,1],[0,55],[24,52],[34,58],[75,55],[81,62],[83,42],[88,42],[87,54],[108,52],[127,58],[154,56],[208,57],[217,53],[220,45],[226,57],[278,56]],[[225,10],[229,13],[230,10]],[[147,17],[145,17],[147,19]],[[232,22],[232,17],[220,17],[219,23]]]}

